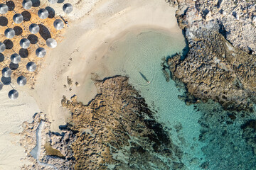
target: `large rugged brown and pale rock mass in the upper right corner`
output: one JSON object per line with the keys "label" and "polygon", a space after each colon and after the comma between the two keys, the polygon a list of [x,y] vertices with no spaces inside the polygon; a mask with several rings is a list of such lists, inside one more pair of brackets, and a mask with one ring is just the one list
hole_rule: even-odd
{"label": "large rugged brown and pale rock mass in the upper right corner", "polygon": [[[254,1],[177,1],[176,18],[189,52],[169,57],[171,78],[201,101],[252,111],[256,101]],[[198,100],[192,100],[198,101]],[[193,102],[191,102],[193,103]]]}

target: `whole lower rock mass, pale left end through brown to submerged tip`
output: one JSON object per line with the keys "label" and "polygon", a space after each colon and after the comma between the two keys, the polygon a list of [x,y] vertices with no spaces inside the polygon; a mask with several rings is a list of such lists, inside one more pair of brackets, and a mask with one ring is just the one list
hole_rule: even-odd
{"label": "whole lower rock mass, pale left end through brown to submerged tip", "polygon": [[50,131],[43,113],[23,123],[21,146],[33,164],[22,169],[186,169],[183,152],[128,81],[95,80],[98,93],[87,105],[63,96],[72,118],[61,133]]}

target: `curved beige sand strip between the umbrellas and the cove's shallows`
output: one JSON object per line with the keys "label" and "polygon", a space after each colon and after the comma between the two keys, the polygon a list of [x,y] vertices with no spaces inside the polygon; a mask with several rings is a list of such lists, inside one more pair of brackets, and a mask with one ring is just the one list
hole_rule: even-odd
{"label": "curved beige sand strip between the umbrellas and the cove's shallows", "polygon": [[[85,5],[86,2],[80,3]],[[75,1],[70,1],[70,4],[75,4]],[[164,0],[103,0],[95,1],[94,5],[90,3],[90,6],[90,10],[75,9],[72,16],[75,20],[70,19],[63,42],[48,53],[43,64],[45,68],[38,74],[35,90],[32,91],[41,111],[52,121],[54,131],[58,131],[58,125],[65,124],[70,115],[61,108],[63,95],[69,98],[80,91],[80,87],[75,85],[70,91],[67,77],[73,79],[73,84],[76,81],[80,86],[85,84],[85,76],[91,74],[90,67],[97,67],[95,63],[114,40],[122,38],[129,31],[149,28],[181,34],[175,18],[176,9]],[[87,98],[92,98],[95,93],[92,91],[92,96]]]}

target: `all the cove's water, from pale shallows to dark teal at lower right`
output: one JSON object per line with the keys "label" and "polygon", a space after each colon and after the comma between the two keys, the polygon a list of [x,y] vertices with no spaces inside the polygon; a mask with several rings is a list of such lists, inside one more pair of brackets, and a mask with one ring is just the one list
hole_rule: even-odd
{"label": "all the cove's water, from pale shallows to dark teal at lower right", "polygon": [[220,121],[221,114],[228,120],[229,113],[215,103],[186,106],[178,99],[183,89],[164,78],[162,57],[182,53],[185,47],[181,33],[156,30],[129,33],[112,43],[97,63],[95,73],[101,78],[117,74],[130,77],[130,83],[140,91],[151,110],[156,111],[157,120],[169,128],[171,140],[183,151],[187,169],[256,169],[252,149],[242,139],[240,126],[246,120],[232,120],[232,125],[226,125],[227,121]]}

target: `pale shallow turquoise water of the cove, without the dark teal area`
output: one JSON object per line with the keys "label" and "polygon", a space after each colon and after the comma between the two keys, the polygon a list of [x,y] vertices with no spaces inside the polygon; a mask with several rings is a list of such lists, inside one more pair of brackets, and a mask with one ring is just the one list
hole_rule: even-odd
{"label": "pale shallow turquoise water of the cove, without the dark teal area", "polygon": [[[110,45],[101,60],[97,60],[92,73],[101,79],[114,75],[129,77],[130,84],[139,90],[149,108],[155,111],[159,123],[169,128],[171,140],[185,153],[183,163],[188,169],[198,169],[203,162],[203,143],[198,142],[201,128],[198,118],[201,114],[178,99],[183,90],[178,89],[174,81],[167,82],[161,71],[163,57],[176,52],[182,54],[184,49],[186,42],[182,33],[164,30],[128,33]],[[89,77],[87,82],[91,82]],[[92,86],[89,84],[86,84],[85,91],[90,91]]]}

